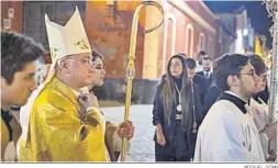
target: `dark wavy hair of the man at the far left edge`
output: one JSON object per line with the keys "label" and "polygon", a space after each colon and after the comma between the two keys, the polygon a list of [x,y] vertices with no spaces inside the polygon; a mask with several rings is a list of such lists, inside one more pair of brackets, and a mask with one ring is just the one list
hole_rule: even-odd
{"label": "dark wavy hair of the man at the far left edge", "polygon": [[11,85],[16,71],[23,70],[27,63],[43,54],[43,46],[32,38],[14,32],[1,32],[1,77]]}

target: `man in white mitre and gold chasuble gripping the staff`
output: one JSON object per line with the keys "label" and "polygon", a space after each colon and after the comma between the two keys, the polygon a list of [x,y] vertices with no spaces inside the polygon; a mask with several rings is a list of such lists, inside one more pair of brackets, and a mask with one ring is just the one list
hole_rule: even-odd
{"label": "man in white mitre and gold chasuble gripping the staff", "polygon": [[[105,120],[89,93],[92,53],[78,9],[65,26],[45,16],[53,64],[46,80],[21,111],[21,161],[110,161]],[[124,125],[124,124],[123,124]],[[121,128],[129,138],[132,124]]]}

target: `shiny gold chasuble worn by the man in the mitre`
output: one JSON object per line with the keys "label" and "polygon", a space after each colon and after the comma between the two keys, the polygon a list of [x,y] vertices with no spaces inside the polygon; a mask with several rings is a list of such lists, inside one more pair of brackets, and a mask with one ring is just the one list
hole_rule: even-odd
{"label": "shiny gold chasuble worn by the man in the mitre", "polygon": [[86,123],[78,117],[74,92],[53,78],[36,98],[30,114],[30,135],[21,161],[107,161],[103,124],[96,111]]}

